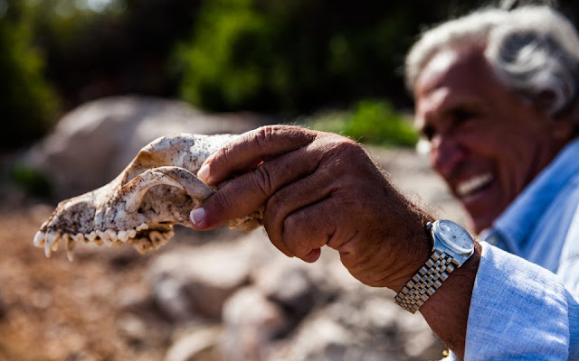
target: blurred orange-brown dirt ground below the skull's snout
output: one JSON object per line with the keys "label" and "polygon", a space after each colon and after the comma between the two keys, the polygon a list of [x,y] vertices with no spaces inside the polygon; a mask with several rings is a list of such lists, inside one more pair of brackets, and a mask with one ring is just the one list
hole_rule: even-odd
{"label": "blurred orange-brown dirt ground below the skull's snout", "polygon": [[118,303],[146,287],[148,255],[87,247],[74,262],[63,252],[45,258],[32,239],[51,211],[0,209],[0,360],[162,359],[165,347],[130,345],[119,329]]}

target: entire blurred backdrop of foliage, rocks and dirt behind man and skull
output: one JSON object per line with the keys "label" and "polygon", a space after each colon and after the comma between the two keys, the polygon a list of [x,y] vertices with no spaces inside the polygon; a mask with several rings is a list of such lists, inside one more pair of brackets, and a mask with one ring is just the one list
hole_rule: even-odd
{"label": "entire blurred backdrop of foliage, rocks and dirt behind man and skull", "polygon": [[[74,263],[62,255],[44,259],[32,238],[57,200],[111,180],[157,136],[273,123],[366,143],[404,190],[466,219],[413,152],[418,135],[402,67],[423,29],[489,4],[495,3],[0,0],[0,360],[441,356],[421,320],[394,310],[390,296],[383,305],[382,293],[328,281],[327,273],[343,272],[331,255],[318,271],[289,264],[276,279],[247,266],[277,255],[263,257],[267,240],[253,240],[261,256],[250,252],[236,270],[241,276],[223,286],[226,271],[207,281],[212,266],[204,268],[205,259],[219,255],[230,264],[226,254],[247,235],[182,230],[155,255],[87,247]],[[576,23],[576,2],[558,8]],[[214,245],[222,248],[171,258]],[[198,274],[185,277],[183,268],[195,264]],[[200,302],[219,307],[207,311]],[[256,307],[262,311],[248,313]],[[331,316],[344,313],[357,319]],[[370,322],[374,316],[384,322]],[[318,348],[307,342],[312,334],[326,335]]]}

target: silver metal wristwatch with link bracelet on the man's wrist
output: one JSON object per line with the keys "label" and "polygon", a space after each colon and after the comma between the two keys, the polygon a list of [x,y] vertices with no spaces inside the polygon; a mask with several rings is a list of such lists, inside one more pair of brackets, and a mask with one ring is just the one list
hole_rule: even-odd
{"label": "silver metal wristwatch with link bracelet on the man's wrist", "polygon": [[420,309],[449,274],[474,253],[474,241],[469,232],[451,220],[428,222],[426,230],[432,238],[432,255],[394,297],[394,302],[412,313]]}

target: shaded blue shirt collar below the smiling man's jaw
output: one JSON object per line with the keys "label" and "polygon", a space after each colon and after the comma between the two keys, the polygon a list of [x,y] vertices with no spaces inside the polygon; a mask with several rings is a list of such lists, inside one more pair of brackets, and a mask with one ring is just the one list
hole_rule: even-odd
{"label": "shaded blue shirt collar below the smiling man's jaw", "polygon": [[579,172],[579,138],[567,144],[494,222],[508,251],[518,255],[545,209],[565,182]]}

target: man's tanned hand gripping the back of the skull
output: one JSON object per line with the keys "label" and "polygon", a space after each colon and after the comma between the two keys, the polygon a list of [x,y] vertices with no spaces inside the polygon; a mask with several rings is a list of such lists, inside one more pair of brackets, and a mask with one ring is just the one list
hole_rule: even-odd
{"label": "man's tanned hand gripping the back of the skull", "polygon": [[430,255],[424,225],[432,218],[394,190],[362,147],[337,134],[261,127],[214,153],[198,176],[210,185],[229,181],[194,209],[196,229],[263,207],[268,236],[285,255],[315,262],[327,245],[358,280],[394,291]]}

